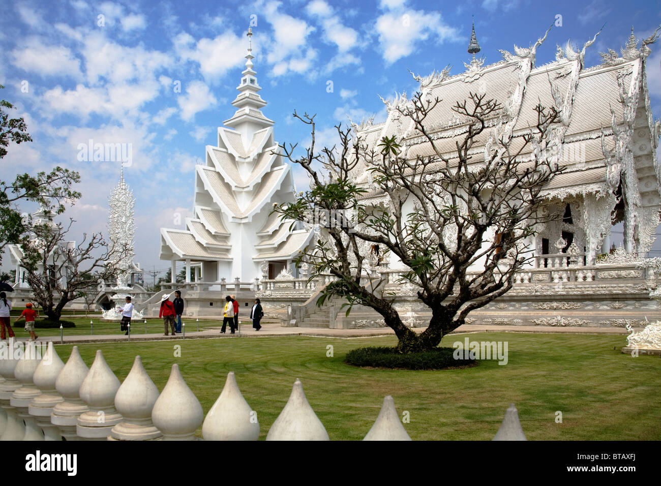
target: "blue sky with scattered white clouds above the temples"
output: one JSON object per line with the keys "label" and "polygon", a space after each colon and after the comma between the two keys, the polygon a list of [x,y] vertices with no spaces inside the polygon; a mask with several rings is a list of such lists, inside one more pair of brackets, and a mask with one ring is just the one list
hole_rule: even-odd
{"label": "blue sky with scattered white clouds above the temples", "polygon": [[[631,26],[640,38],[661,24],[659,1],[381,0],[279,2],[21,1],[0,20],[0,97],[24,116],[32,143],[11,145],[3,179],[63,165],[83,177],[83,198],[67,211],[73,234],[104,231],[107,199],[119,163],[79,160],[80,143],[130,143],[125,177],[136,195],[136,261],[158,260],[159,228],[183,227],[192,206],[194,165],[229,118],[253,24],[253,54],[264,114],[276,121],[278,142],[305,143],[293,110],[317,114],[318,137],[332,143],[332,126],[347,116],[385,119],[377,95],[416,90],[407,69],[426,75],[470,60],[471,15],[486,64],[499,49],[528,46],[543,36],[537,65],[555,60],[557,44],[619,51]],[[661,115],[661,43],[648,58],[655,118]],[[180,92],[176,87],[180,86]],[[332,89],[331,89],[332,88]],[[297,188],[307,177],[295,170]],[[9,259],[3,266],[7,268]]]}

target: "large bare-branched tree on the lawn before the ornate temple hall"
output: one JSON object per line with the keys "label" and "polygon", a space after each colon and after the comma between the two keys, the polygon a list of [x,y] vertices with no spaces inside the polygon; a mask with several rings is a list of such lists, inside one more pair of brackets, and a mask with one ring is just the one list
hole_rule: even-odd
{"label": "large bare-branched tree on the lawn before the ornate temple hall", "polygon": [[[395,331],[401,352],[437,346],[471,311],[510,290],[514,273],[531,258],[526,243],[535,225],[557,217],[545,212],[540,194],[563,170],[558,151],[547,147],[553,124],[559,123],[558,110],[538,104],[537,123],[517,140],[511,126],[500,126],[484,147],[484,159],[474,159],[469,152],[500,103],[485,95],[469,96],[452,107],[469,121],[451,154],[442,152],[424,124],[441,100],[421,93],[397,110],[413,120],[432,155],[407,157],[395,136],[383,138],[376,149],[367,147],[341,125],[336,126],[339,145],[315,153],[315,116],[296,112],[296,118],[311,126],[311,147],[296,159],[295,145],[280,145],[284,156],[307,171],[311,188],[274,211],[297,221],[309,220],[315,211],[331,215],[321,237],[297,259],[297,264],[309,263],[311,279],[324,273],[336,277],[317,304],[335,296],[347,301],[347,313],[355,304],[373,308]],[[359,161],[371,173],[369,190],[385,198],[381,206],[361,200],[368,188],[350,177]],[[313,168],[318,164],[327,177]],[[337,224],[337,214],[346,223]],[[430,308],[432,317],[420,335],[402,322],[394,296],[384,292],[385,278],[368,271],[373,266],[366,249],[373,244],[401,262],[403,283],[414,286],[418,299]],[[479,270],[473,271],[476,266]]]}

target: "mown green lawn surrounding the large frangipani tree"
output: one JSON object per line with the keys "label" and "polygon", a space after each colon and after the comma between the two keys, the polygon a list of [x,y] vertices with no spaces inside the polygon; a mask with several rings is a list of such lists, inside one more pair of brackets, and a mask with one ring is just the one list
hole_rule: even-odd
{"label": "mown green lawn surrounding the large frangipani tree", "polygon": [[[140,354],[159,387],[178,363],[204,412],[217,399],[227,372],[234,371],[245,399],[258,413],[264,438],[284,407],[296,378],[331,439],[358,440],[376,419],[385,395],[397,411],[408,411],[405,428],[414,440],[490,440],[510,402],[516,403],[529,440],[659,440],[661,359],[622,354],[621,336],[484,333],[471,341],[507,341],[509,362],[482,361],[474,368],[444,371],[368,370],[343,363],[352,348],[395,344],[394,337],[325,339],[243,337],[178,340],[175,344],[85,344],[90,365],[95,351],[120,380]],[[465,335],[457,336],[463,341]],[[446,338],[451,346],[454,337]],[[327,345],[334,356],[327,357]],[[71,344],[58,345],[66,360]],[[563,423],[555,422],[556,411]],[[198,430],[198,434],[200,431]]]}

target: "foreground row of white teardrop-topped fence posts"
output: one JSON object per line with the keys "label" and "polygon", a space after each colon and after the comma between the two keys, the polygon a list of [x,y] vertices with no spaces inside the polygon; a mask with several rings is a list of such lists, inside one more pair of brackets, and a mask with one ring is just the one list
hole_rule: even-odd
{"label": "foreground row of white teardrop-topped fence posts", "polygon": [[[256,440],[256,411],[241,395],[234,372],[204,417],[200,401],[173,364],[159,393],[136,356],[120,384],[100,350],[90,368],[73,346],[66,364],[53,343],[44,355],[34,343],[0,343],[0,440]],[[305,398],[299,380],[266,440],[329,440]],[[364,440],[410,440],[393,397]],[[494,440],[525,440],[514,405],[505,413]]]}

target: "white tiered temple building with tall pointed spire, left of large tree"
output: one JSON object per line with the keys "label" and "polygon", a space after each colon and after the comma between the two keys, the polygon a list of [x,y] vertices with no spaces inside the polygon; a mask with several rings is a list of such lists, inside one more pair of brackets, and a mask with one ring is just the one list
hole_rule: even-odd
{"label": "white tiered temple building with tall pointed spire, left of large tree", "polygon": [[[217,131],[217,145],[206,146],[204,165],[195,171],[192,218],[186,229],[161,229],[161,260],[186,264],[186,283],[220,290],[221,282],[254,284],[291,268],[311,234],[270,214],[274,203],[295,198],[290,165],[279,155],[273,120],[253,69],[251,37],[245,70],[232,102],[236,112]],[[194,270],[194,276],[191,275]],[[237,280],[238,279],[238,280]],[[185,285],[184,285],[185,286]],[[222,286],[224,288],[224,285]]]}

